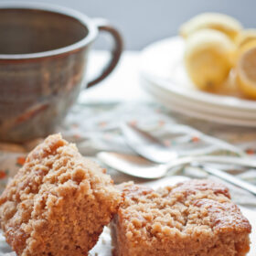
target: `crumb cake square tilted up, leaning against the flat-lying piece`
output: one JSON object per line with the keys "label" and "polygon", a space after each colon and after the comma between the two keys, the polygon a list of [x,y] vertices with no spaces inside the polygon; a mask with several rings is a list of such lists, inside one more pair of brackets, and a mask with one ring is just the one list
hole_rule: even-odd
{"label": "crumb cake square tilted up, leaning against the flat-lying piece", "polygon": [[121,202],[99,165],[48,136],[0,197],[5,239],[21,256],[87,255]]}

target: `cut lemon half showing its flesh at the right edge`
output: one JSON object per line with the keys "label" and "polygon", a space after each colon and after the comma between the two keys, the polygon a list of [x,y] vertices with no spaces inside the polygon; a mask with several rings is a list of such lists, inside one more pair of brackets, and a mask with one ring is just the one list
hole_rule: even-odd
{"label": "cut lemon half showing its flesh at the right edge", "polygon": [[243,52],[237,64],[237,83],[248,98],[256,99],[256,46]]}

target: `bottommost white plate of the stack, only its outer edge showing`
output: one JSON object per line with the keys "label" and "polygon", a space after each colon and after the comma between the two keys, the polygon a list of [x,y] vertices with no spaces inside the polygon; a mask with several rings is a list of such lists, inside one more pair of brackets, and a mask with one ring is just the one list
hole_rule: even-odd
{"label": "bottommost white plate of the stack, only its outer edge showing", "polygon": [[239,125],[245,127],[256,127],[256,119],[244,116],[242,113],[239,117],[233,117],[233,114],[222,115],[221,113],[216,114],[213,112],[207,112],[207,109],[203,104],[199,104],[198,107],[194,107],[189,101],[180,101],[178,96],[166,93],[162,88],[159,88],[154,83],[146,80],[142,80],[144,89],[154,96],[156,101],[164,104],[165,107],[172,111],[179,112],[190,117],[207,120],[215,123],[225,123],[229,125]]}

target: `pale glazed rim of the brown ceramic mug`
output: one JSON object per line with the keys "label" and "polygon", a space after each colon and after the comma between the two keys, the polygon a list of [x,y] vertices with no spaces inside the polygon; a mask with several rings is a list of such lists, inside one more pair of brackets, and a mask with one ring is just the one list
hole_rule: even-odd
{"label": "pale glazed rim of the brown ceramic mug", "polygon": [[1,59],[11,59],[11,60],[41,59],[41,58],[47,58],[52,56],[58,56],[62,54],[68,54],[89,45],[98,34],[98,28],[93,24],[93,22],[91,22],[90,17],[80,13],[77,10],[71,9],[69,7],[43,4],[43,3],[31,3],[31,2],[21,2],[21,3],[20,2],[3,2],[3,3],[0,3],[0,9],[25,9],[25,10],[47,11],[53,14],[55,13],[55,14],[72,17],[77,21],[79,21],[82,26],[88,29],[88,34],[85,37],[66,47],[51,49],[47,51],[39,51],[34,53],[0,54],[0,60]]}

